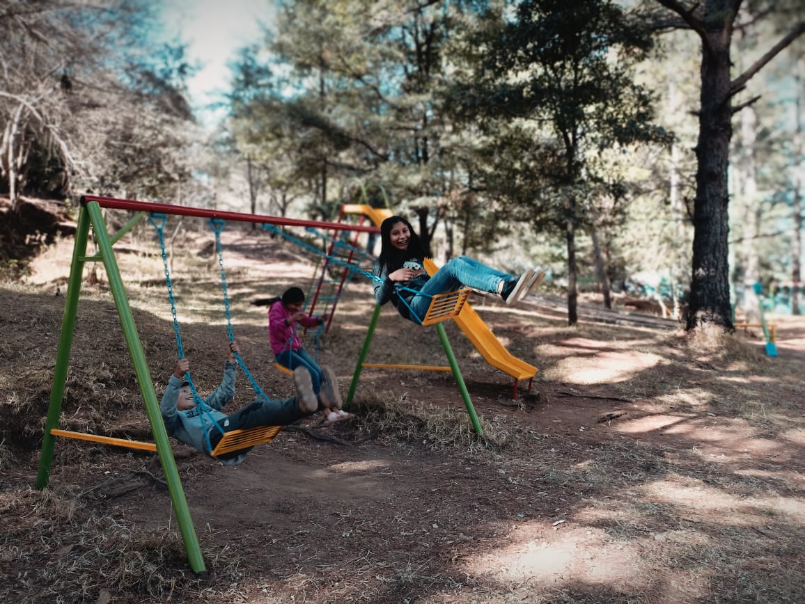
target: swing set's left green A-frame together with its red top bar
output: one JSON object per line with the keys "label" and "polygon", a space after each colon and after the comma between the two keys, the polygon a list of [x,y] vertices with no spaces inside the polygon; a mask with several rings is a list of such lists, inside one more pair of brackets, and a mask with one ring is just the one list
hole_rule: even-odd
{"label": "swing set's left green A-frame together with its red top bar", "polygon": [[[109,236],[103,213],[101,212],[102,207],[138,213],[128,220],[114,236]],[[92,440],[94,442],[107,442],[101,440],[105,439],[105,437],[95,437],[94,435],[77,436],[77,433],[72,433],[68,430],[60,430],[58,428],[61,417],[61,405],[69,372],[70,353],[72,349],[73,332],[76,328],[78,303],[81,297],[84,266],[87,262],[101,261],[109,279],[109,290],[112,293],[114,305],[118,311],[118,318],[120,318],[123,336],[126,340],[126,347],[128,348],[134,368],[134,376],[136,377],[142,401],[146,408],[148,421],[151,425],[151,433],[154,436],[154,447],[156,453],[159,455],[159,462],[165,475],[168,494],[171,497],[171,504],[179,524],[182,539],[184,540],[184,548],[188,554],[189,565],[196,573],[206,573],[204,557],[201,554],[196,529],[192,523],[187,499],[185,499],[179,471],[177,470],[173,451],[171,450],[171,443],[168,440],[161,413],[159,413],[159,403],[157,402],[156,393],[154,391],[154,381],[151,378],[151,372],[149,371],[145,354],[142,350],[142,343],[139,339],[137,326],[134,323],[134,316],[131,312],[131,307],[126,295],[126,287],[123,285],[120,269],[118,268],[118,261],[113,248],[114,243],[120,240],[126,232],[130,231],[147,213],[196,216],[198,218],[253,222],[256,224],[282,224],[301,227],[312,226],[335,230],[358,229],[365,230],[366,232],[376,232],[377,229],[374,227],[362,228],[356,225],[325,223],[315,220],[259,216],[189,206],[172,206],[167,203],[148,203],[129,199],[112,199],[96,195],[85,195],[81,198],[81,207],[79,209],[76,226],[76,238],[72,249],[68,289],[64,298],[64,315],[59,336],[59,347],[56,353],[56,368],[53,372],[53,386],[51,389],[47,419],[45,421],[42,453],[39,458],[39,471],[36,477],[35,487],[39,489],[47,487],[47,483],[50,479],[57,436],[80,438],[81,440]],[[98,248],[98,253],[95,256],[86,255],[90,227],[93,229]],[[119,445],[125,443],[124,446],[131,446],[129,444],[130,441],[126,441],[125,439],[112,440],[115,442],[109,442],[109,444]],[[144,444],[148,446],[151,443]],[[238,446],[242,448],[244,445],[243,443],[239,443]],[[151,450],[150,447],[145,448]]]}

